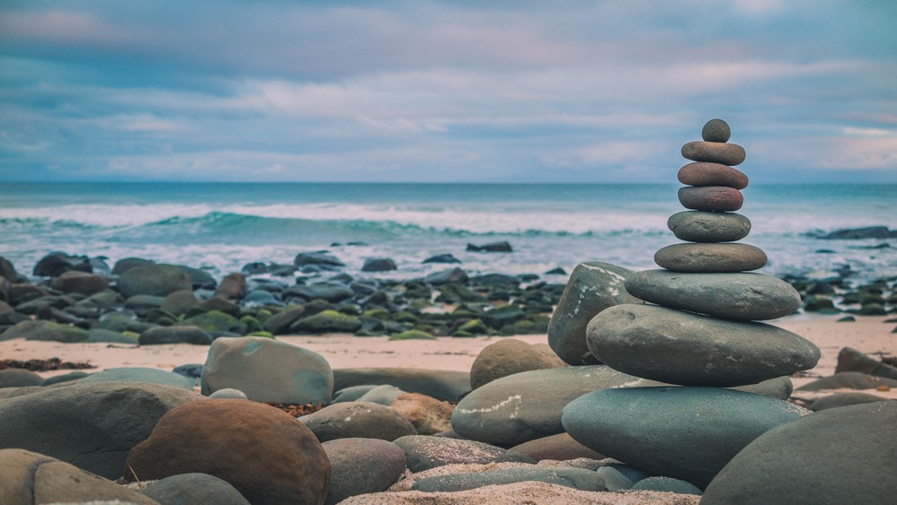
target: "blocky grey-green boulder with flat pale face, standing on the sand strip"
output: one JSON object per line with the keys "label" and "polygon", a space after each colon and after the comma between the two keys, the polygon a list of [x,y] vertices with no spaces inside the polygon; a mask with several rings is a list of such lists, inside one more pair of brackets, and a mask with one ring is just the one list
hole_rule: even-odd
{"label": "blocky grey-green boulder with flat pale face, standing on the sand strip", "polygon": [[250,400],[283,404],[327,403],[334,390],[320,354],[260,336],[215,339],[200,383],[204,395],[230,387]]}

